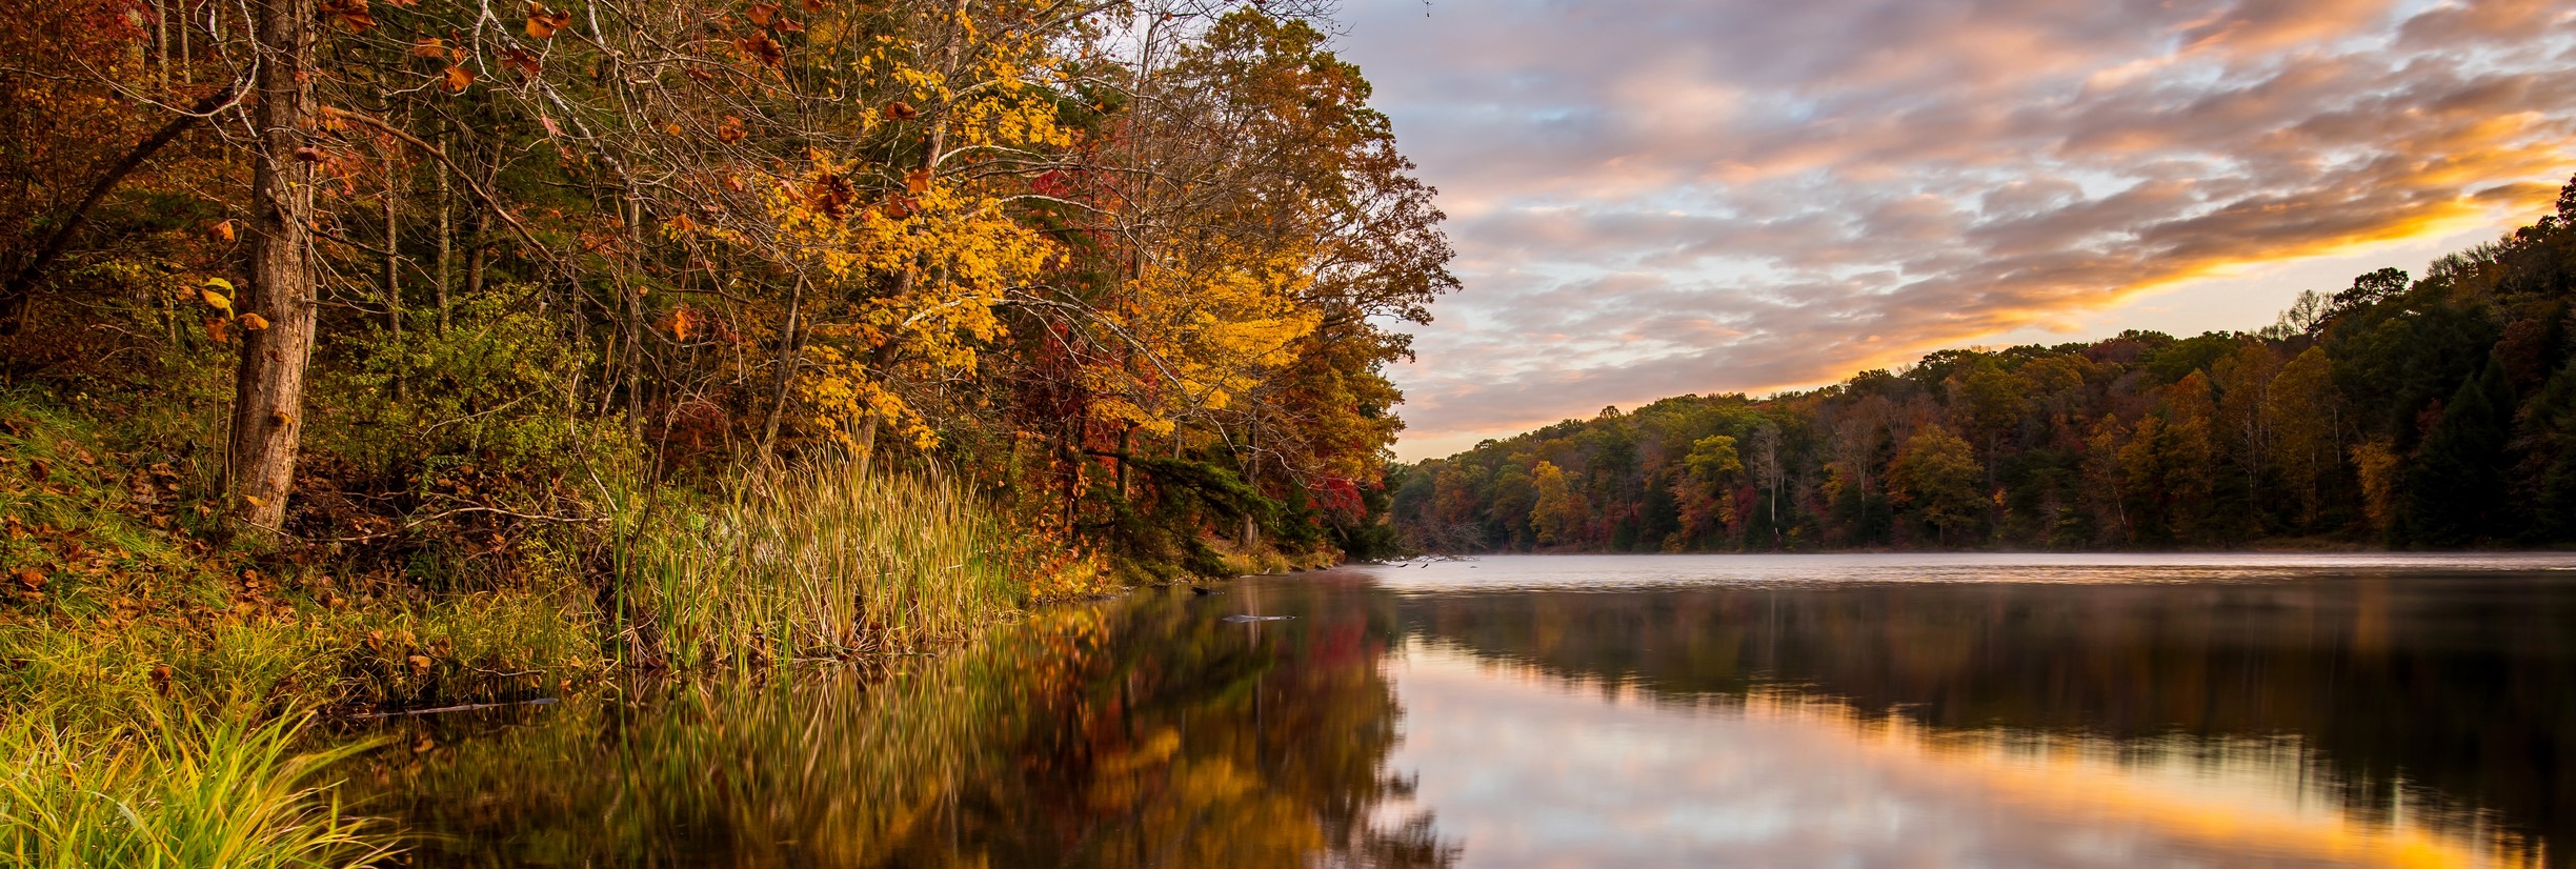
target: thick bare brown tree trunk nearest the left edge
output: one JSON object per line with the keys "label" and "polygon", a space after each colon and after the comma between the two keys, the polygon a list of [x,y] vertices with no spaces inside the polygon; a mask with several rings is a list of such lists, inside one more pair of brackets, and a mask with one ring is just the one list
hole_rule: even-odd
{"label": "thick bare brown tree trunk nearest the left edge", "polygon": [[286,521],[304,433],[304,364],[314,346],[314,165],[296,157],[312,126],[312,0],[260,0],[258,157],[250,175],[250,294],[242,312],[268,320],[242,333],[227,480],[232,516],[258,529]]}

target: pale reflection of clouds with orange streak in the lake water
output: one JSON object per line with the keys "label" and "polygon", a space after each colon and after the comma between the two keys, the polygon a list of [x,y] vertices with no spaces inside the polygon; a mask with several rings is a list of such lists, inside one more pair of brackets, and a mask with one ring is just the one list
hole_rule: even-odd
{"label": "pale reflection of clouds with orange streak in the lake water", "polygon": [[[1935,732],[1754,694],[1656,701],[1412,642],[1412,807],[1466,866],[2488,864],[2476,817],[2354,820],[2295,740]],[[2445,833],[2434,833],[2439,825]]]}

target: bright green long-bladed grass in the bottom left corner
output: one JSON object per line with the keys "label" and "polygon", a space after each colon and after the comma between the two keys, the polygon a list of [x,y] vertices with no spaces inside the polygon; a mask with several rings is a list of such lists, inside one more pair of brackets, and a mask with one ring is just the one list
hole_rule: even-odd
{"label": "bright green long-bladed grass in the bottom left corner", "polygon": [[366,743],[299,753],[307,717],[160,717],[95,732],[0,722],[0,866],[366,866],[392,835],[317,774]]}

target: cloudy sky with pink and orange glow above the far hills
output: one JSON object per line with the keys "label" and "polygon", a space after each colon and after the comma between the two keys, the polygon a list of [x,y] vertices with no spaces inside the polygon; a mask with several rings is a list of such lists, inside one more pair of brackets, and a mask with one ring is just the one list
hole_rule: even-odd
{"label": "cloudy sky with pink and orange glow above the far hills", "polygon": [[1947,346],[2251,330],[2576,173],[2576,0],[1345,0],[1466,291],[1399,454]]}

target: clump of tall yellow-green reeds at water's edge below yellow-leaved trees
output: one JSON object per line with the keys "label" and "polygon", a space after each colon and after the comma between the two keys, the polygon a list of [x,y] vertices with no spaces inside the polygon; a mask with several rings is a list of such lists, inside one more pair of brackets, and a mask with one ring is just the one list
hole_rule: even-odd
{"label": "clump of tall yellow-green reeds at water's edge below yellow-leaved trees", "polygon": [[945,477],[811,462],[636,518],[621,619],[672,665],[922,650],[1023,606],[1023,552]]}

